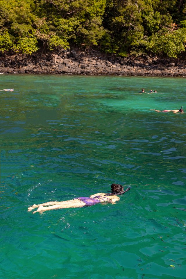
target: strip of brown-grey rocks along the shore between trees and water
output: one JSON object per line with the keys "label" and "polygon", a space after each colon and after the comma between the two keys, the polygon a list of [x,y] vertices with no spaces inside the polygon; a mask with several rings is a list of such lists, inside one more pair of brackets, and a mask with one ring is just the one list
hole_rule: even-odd
{"label": "strip of brown-grey rocks along the shore between trees and water", "polygon": [[143,57],[121,58],[92,51],[62,51],[34,55],[3,55],[1,74],[82,74],[119,76],[186,76],[184,60]]}

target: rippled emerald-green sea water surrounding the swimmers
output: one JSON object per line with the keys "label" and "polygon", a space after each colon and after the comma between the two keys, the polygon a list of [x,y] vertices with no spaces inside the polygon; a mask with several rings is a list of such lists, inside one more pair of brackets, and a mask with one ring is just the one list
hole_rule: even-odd
{"label": "rippled emerald-green sea water surrounding the swimmers", "polygon": [[[1,75],[1,278],[185,278],[184,78]],[[141,88],[158,90],[138,94]],[[28,206],[131,185],[115,204]]]}

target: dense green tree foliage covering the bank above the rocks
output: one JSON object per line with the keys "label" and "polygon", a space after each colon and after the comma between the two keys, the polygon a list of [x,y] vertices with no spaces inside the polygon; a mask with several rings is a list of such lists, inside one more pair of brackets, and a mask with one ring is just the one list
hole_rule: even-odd
{"label": "dense green tree foliage covering the bank above the rocks", "polygon": [[0,0],[0,51],[70,46],[177,58],[185,53],[186,0]]}

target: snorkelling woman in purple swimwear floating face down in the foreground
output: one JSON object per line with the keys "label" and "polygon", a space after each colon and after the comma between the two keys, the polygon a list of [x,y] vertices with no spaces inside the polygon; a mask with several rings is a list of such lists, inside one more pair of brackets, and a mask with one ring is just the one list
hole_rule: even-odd
{"label": "snorkelling woman in purple swimwear floating face down in the foreground", "polygon": [[84,206],[94,205],[96,203],[104,203],[104,202],[115,203],[116,201],[119,201],[119,197],[117,195],[122,195],[128,190],[130,190],[130,188],[127,188],[124,191],[122,185],[114,183],[111,185],[110,194],[97,193],[91,195],[90,197],[79,197],[69,201],[49,201],[47,203],[34,204],[28,208],[28,211],[37,208],[37,210],[33,212],[35,213],[35,212],[44,212],[47,210],[59,209],[59,208],[84,207]]}

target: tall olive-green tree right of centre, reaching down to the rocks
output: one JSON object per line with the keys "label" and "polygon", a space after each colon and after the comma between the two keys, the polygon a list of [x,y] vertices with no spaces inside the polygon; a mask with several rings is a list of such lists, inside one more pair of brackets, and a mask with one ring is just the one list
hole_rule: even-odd
{"label": "tall olive-green tree right of centre, reaching down to the rocks", "polygon": [[141,9],[138,1],[110,0],[105,11],[102,48],[107,52],[127,55],[128,52],[142,41]]}

